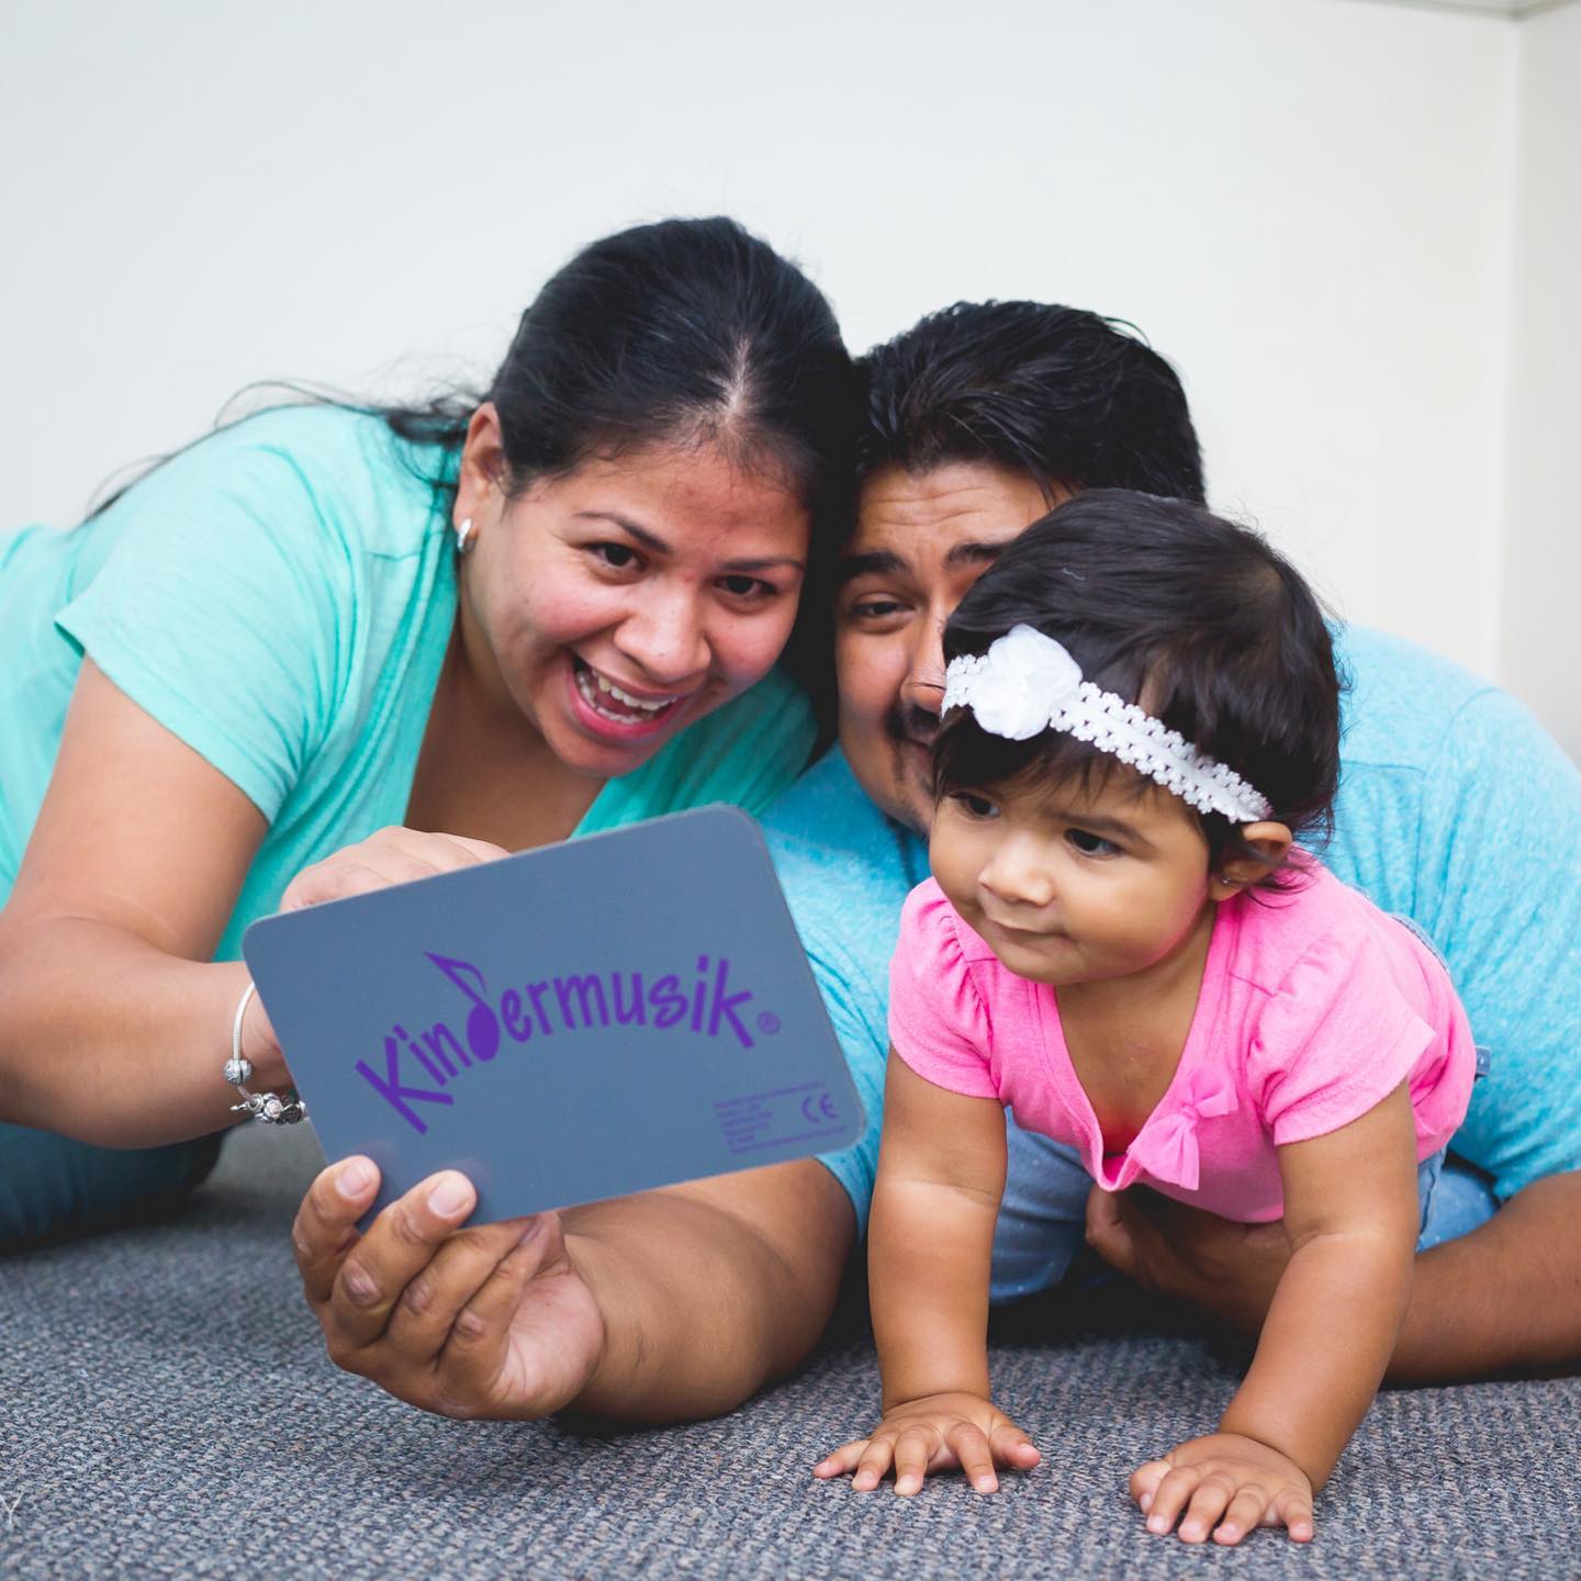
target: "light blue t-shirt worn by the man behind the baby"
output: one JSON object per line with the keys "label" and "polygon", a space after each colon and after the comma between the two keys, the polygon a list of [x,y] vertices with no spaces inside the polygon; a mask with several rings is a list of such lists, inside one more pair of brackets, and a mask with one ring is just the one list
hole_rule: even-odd
{"label": "light blue t-shirt worn by the man behind the baby", "polygon": [[[1443,952],[1491,1075],[1453,1151],[1500,1198],[1581,1168],[1581,773],[1507,692],[1399,637],[1336,632],[1352,689],[1330,868]],[[765,819],[768,846],[868,1111],[825,1157],[866,1222],[889,1051],[889,958],[926,846],[836,749]]]}

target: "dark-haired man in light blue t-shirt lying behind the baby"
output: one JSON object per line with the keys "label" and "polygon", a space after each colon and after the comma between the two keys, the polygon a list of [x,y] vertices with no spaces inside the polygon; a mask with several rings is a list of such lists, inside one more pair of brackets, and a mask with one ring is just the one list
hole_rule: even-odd
{"label": "dark-haired man in light blue t-shirt lying behind the baby", "polygon": [[[474,1200],[462,1176],[424,1183],[359,1238],[375,1179],[359,1160],[330,1167],[297,1217],[308,1301],[341,1366],[413,1404],[677,1420],[730,1409],[806,1355],[871,1187],[887,960],[926,873],[944,620],[1009,539],[1078,489],[1202,498],[1175,375],[1094,315],[952,308],[873,353],[868,373],[836,607],[840,749],[768,821],[868,1135],[824,1162],[458,1233]],[[1326,857],[1448,953],[1494,1048],[1462,1151],[1510,1198],[1418,1258],[1396,1375],[1560,1366],[1581,1358],[1581,1175],[1562,1173],[1581,1165],[1581,776],[1523,710],[1451,666],[1375,634],[1342,648],[1356,689]],[[1491,1211],[1475,1176],[1462,1187],[1470,1222]],[[999,1296],[1058,1281],[1085,1198],[1069,1159],[1012,1132]],[[1126,1271],[1260,1320],[1277,1228],[1096,1208],[1092,1238]]]}

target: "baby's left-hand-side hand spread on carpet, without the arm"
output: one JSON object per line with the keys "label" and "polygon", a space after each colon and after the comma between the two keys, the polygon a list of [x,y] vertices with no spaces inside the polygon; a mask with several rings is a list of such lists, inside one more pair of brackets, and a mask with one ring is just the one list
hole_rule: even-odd
{"label": "baby's left-hand-side hand spread on carpet, without the arm", "polygon": [[928,1472],[963,1470],[979,1492],[999,1486],[994,1466],[1029,1472],[1042,1459],[1032,1440],[993,1401],[975,1394],[923,1394],[885,1412],[866,1439],[852,1439],[813,1467],[870,1492],[895,1467],[895,1492],[914,1494]]}

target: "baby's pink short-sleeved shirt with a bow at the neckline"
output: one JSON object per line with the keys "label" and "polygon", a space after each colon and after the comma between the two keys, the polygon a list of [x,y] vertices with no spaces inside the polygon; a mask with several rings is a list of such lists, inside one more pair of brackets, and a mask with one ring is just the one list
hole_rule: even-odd
{"label": "baby's pink short-sleeved shirt with a bow at the neckline", "polygon": [[936,1086],[1077,1148],[1107,1190],[1141,1183],[1244,1224],[1284,1213],[1279,1146],[1338,1130],[1401,1081],[1417,1157],[1437,1153],[1477,1069],[1432,950],[1317,863],[1298,889],[1219,907],[1175,1078],[1124,1153],[1104,1153],[1056,991],[1002,966],[933,879],[901,915],[890,1042]]}

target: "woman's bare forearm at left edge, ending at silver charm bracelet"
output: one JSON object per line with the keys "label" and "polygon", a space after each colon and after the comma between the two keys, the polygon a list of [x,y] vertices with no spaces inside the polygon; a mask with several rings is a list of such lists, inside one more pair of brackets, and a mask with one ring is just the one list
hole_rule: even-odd
{"label": "woman's bare forearm at left edge, ending at silver charm bracelet", "polygon": [[[111,1148],[223,1129],[247,977],[240,961],[180,960],[87,917],[0,914],[0,1119]],[[247,1053],[251,1086],[285,1083],[274,1051],[250,1039]]]}

